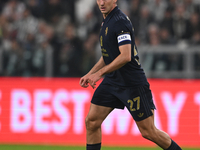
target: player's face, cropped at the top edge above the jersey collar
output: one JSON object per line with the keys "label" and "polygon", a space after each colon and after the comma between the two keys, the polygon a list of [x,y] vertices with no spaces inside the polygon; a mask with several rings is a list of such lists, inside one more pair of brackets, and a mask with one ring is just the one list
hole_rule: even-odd
{"label": "player's face, cropped at the top edge above the jersey collar", "polygon": [[106,17],[116,6],[117,0],[97,0],[97,5],[104,17]]}

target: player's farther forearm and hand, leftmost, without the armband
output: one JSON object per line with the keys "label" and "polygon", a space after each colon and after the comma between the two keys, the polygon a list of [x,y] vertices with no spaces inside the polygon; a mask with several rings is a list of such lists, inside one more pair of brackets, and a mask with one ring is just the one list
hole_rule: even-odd
{"label": "player's farther forearm and hand, leftmost, without the armband", "polygon": [[97,71],[99,71],[101,68],[103,68],[105,66],[105,62],[103,60],[103,57],[101,56],[101,58],[99,59],[99,61],[94,65],[94,67],[92,67],[92,69],[86,74],[84,75],[81,79],[80,79],[80,86],[84,87],[84,88],[87,88],[89,85],[88,85],[88,79],[89,79],[89,76]]}

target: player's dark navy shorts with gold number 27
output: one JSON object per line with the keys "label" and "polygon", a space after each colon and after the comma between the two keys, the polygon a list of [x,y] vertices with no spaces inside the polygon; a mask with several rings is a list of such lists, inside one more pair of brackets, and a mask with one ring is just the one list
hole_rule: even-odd
{"label": "player's dark navy shorts with gold number 27", "polygon": [[149,84],[139,87],[121,87],[101,83],[91,103],[119,109],[124,109],[126,106],[135,121],[152,116],[151,110],[155,109]]}

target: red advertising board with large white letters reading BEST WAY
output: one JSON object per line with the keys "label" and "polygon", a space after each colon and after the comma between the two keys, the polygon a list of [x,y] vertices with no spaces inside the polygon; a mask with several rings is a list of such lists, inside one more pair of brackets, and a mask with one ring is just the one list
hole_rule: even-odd
{"label": "red advertising board with large white letters reading BEST WAY", "polygon": [[[200,80],[149,83],[156,126],[181,146],[200,147]],[[85,145],[93,92],[79,78],[0,78],[0,143]],[[126,109],[111,112],[102,134],[103,145],[155,145],[142,138]]]}

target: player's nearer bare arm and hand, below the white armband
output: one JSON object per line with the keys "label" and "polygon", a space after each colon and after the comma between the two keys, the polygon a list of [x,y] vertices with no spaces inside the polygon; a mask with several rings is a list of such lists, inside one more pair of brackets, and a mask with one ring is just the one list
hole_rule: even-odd
{"label": "player's nearer bare arm and hand, below the white armband", "polygon": [[89,79],[90,85],[95,88],[95,83],[105,74],[120,69],[131,61],[131,44],[119,46],[120,54],[108,65],[105,65],[96,73],[92,74]]}

